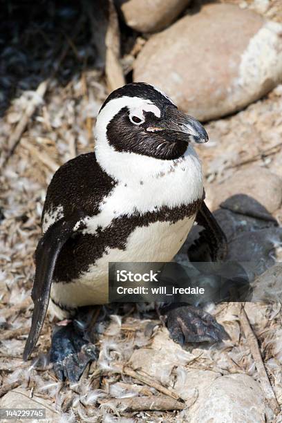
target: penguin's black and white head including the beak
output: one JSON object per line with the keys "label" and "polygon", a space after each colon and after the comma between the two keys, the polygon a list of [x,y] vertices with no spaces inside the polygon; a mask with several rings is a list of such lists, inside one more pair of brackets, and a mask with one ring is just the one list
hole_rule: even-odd
{"label": "penguin's black and white head including the beak", "polygon": [[196,119],[178,110],[162,91],[144,82],[113,91],[97,116],[96,143],[118,152],[160,160],[180,158],[190,142],[207,142]]}

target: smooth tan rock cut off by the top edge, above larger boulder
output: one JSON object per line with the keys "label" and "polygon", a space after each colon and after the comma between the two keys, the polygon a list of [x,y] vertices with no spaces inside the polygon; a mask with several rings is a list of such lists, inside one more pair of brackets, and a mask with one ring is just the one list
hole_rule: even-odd
{"label": "smooth tan rock cut off by the top edge, above larger boulder", "polygon": [[116,0],[126,25],[140,32],[160,31],[178,17],[190,0]]}

